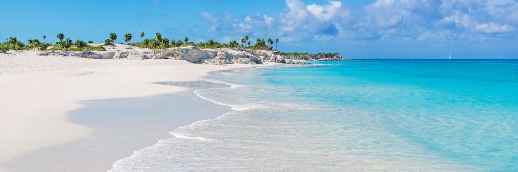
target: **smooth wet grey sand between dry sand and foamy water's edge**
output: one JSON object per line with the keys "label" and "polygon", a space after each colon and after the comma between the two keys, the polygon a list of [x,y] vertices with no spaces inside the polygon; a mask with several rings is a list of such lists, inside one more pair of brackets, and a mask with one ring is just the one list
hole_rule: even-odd
{"label": "smooth wet grey sand between dry sand and foamy water's edge", "polygon": [[195,89],[226,85],[206,81],[156,84],[189,90],[142,98],[81,101],[84,107],[67,117],[71,122],[93,128],[89,136],[32,151],[3,166],[12,171],[106,171],[117,160],[130,157],[133,151],[173,137],[169,131],[231,111],[193,93]]}

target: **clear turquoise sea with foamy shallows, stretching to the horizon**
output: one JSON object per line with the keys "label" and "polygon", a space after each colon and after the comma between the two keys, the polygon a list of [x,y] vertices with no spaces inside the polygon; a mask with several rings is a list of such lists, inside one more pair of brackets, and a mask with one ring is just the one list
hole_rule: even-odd
{"label": "clear turquoise sea with foamy shallows, stretching to the horizon", "polygon": [[233,107],[113,171],[518,170],[518,60],[358,60],[222,71]]}

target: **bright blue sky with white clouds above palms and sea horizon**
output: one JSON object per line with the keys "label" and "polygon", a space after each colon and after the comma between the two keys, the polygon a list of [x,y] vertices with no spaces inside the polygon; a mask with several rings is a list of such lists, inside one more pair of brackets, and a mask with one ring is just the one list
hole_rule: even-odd
{"label": "bright blue sky with white clouds above palms and sea horizon", "polygon": [[[518,58],[518,0],[0,1],[0,40],[279,39],[346,58]],[[275,49],[275,43],[274,43]]]}

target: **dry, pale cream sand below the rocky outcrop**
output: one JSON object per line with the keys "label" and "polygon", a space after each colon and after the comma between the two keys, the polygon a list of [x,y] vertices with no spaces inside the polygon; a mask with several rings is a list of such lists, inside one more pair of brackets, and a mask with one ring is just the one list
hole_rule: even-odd
{"label": "dry, pale cream sand below the rocky outcrop", "polygon": [[181,92],[188,89],[153,83],[194,81],[212,70],[253,66],[8,53],[0,54],[0,164],[33,150],[89,136],[91,127],[66,117],[84,107],[80,101]]}

